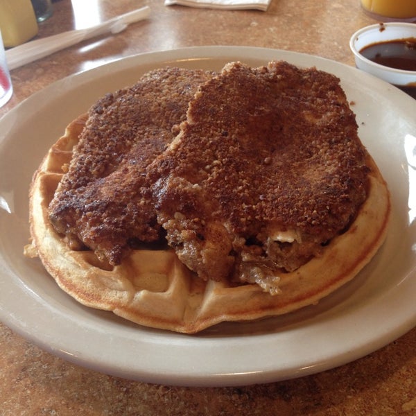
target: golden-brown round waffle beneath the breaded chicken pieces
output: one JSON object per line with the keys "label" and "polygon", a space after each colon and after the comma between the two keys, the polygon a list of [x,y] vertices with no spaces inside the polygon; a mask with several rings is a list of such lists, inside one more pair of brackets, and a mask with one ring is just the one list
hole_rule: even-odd
{"label": "golden-brown round waffle beneath the breaded chicken pieces", "polygon": [[386,184],[369,159],[368,198],[349,230],[333,239],[322,257],[281,275],[278,295],[254,284],[202,281],[171,250],[132,250],[120,266],[92,251],[70,250],[49,223],[48,206],[69,163],[86,116],[70,123],[33,177],[30,195],[32,243],[58,285],[78,302],[148,327],[195,333],[223,321],[254,320],[315,304],[352,279],[383,243],[390,214]]}

